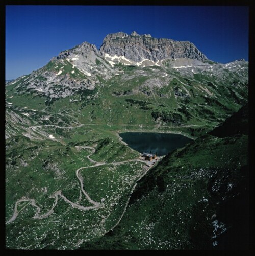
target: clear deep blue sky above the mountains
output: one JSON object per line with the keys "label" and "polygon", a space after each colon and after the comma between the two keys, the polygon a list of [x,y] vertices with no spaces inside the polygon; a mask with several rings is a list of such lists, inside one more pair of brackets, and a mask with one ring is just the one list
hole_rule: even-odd
{"label": "clear deep blue sky above the mountains", "polygon": [[209,59],[248,60],[248,7],[6,6],[6,79],[30,74],[84,41],[132,31],[191,41]]}

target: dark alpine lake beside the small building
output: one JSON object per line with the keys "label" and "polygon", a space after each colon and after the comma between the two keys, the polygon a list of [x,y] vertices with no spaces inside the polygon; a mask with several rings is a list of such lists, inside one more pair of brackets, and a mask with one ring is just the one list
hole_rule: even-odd
{"label": "dark alpine lake beside the small building", "polygon": [[151,133],[151,132],[124,132],[119,136],[131,148],[140,153],[157,153],[166,155],[177,148],[182,148],[192,139],[180,134]]}

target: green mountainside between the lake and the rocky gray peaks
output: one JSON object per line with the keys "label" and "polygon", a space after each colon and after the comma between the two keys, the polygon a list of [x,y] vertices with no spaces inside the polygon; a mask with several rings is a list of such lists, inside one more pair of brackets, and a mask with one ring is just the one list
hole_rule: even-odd
{"label": "green mountainside between the lake and the rocky gray peaks", "polygon": [[[68,61],[64,63],[63,74],[71,68]],[[48,65],[42,69],[51,68]],[[8,85],[6,96],[8,102],[21,108],[52,114],[69,112],[82,124],[115,125],[114,129],[126,130],[171,129],[198,136],[247,103],[247,64],[242,65],[240,74],[219,68],[191,75],[175,68],[119,64],[115,69],[124,73],[101,80],[94,90],[80,89],[66,98],[49,99],[36,91],[21,94],[26,77]]]}

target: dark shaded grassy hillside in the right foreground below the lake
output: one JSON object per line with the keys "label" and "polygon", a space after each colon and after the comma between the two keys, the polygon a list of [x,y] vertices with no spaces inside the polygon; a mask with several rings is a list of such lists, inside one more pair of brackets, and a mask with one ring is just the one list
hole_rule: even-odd
{"label": "dark shaded grassy hillside in the right foreground below the lake", "polygon": [[218,137],[167,155],[138,182],[120,224],[81,249],[248,249],[246,121],[247,106]]}

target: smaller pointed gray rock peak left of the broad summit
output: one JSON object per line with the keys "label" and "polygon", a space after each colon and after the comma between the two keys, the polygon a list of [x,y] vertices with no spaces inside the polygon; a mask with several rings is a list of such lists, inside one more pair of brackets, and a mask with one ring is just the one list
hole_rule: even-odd
{"label": "smaller pointed gray rock peak left of the broad summit", "polygon": [[33,91],[48,98],[65,98],[78,91],[93,90],[100,83],[98,75],[108,79],[116,73],[101,55],[94,44],[83,42],[33,71],[22,80],[18,90],[20,94]]}

